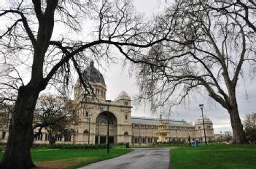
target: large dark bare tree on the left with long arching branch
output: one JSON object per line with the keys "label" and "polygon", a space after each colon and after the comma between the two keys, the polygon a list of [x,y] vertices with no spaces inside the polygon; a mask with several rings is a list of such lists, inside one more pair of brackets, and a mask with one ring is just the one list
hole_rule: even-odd
{"label": "large dark bare tree on the left with long arching branch", "polygon": [[[168,29],[158,32],[145,24],[128,0],[7,3],[0,8],[0,88],[14,90],[18,97],[0,168],[27,169],[35,166],[30,147],[36,100],[48,84],[66,94],[74,70],[90,93],[82,75],[90,58],[112,59],[112,46],[121,53],[128,48],[139,51],[165,40]],[[94,28],[87,38],[82,36],[84,25]]]}

